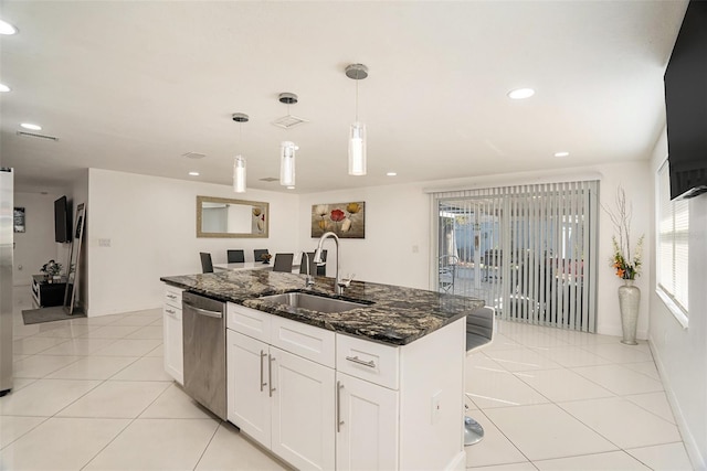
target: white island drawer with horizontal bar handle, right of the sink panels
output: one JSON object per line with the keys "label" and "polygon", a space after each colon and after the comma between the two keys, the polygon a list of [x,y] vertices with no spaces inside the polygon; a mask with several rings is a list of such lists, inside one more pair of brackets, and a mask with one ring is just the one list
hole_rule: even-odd
{"label": "white island drawer with horizontal bar handle, right of the sink panels", "polygon": [[398,389],[400,349],[349,335],[336,335],[336,370]]}

